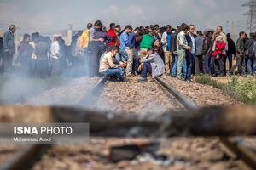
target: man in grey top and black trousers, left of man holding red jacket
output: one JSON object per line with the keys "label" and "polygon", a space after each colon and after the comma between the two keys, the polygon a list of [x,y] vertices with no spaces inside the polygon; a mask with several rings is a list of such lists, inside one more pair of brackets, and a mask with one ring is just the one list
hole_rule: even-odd
{"label": "man in grey top and black trousers, left of man holding red jacket", "polygon": [[203,37],[202,31],[197,31],[197,37],[195,37],[195,72],[196,74],[205,73],[204,60],[201,54],[202,46],[205,40]]}

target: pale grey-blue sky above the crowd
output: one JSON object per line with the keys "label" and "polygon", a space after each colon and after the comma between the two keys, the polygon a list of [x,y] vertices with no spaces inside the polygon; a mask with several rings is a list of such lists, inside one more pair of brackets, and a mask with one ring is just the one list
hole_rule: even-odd
{"label": "pale grey-blue sky above the crowd", "polygon": [[[102,20],[125,26],[148,26],[181,23],[194,24],[196,30],[216,28],[236,33],[247,26],[246,0],[0,0],[0,31],[15,23],[22,32],[48,32],[69,28],[84,30],[88,22]],[[227,23],[229,21],[229,23]]]}

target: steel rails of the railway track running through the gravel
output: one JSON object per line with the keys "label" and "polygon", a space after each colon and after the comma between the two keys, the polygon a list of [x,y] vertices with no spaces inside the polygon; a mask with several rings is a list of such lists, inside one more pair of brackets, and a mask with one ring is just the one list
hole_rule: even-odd
{"label": "steel rails of the railway track running through the gravel", "polygon": [[[198,106],[195,102],[186,98],[183,94],[179,93],[175,88],[172,88],[167,82],[160,77],[153,78],[156,83],[160,85],[168,96],[172,96],[177,100],[177,103],[186,110],[197,109]],[[89,106],[94,101],[94,96],[98,95],[100,89],[104,86],[104,83],[108,80],[108,77],[102,77],[96,84],[90,88],[86,96],[80,100],[79,105]],[[220,145],[229,156],[233,156],[241,159],[247,167],[255,169],[256,157],[255,154],[243,147],[242,144],[237,143],[233,138],[220,137]],[[32,162],[38,159],[42,150],[47,150],[49,145],[32,145],[28,149],[24,150],[23,154],[17,156],[14,161],[9,162],[5,167],[1,167],[0,170],[14,170],[14,169],[27,169]],[[38,151],[39,150],[39,151]],[[20,163],[22,162],[22,163]]]}

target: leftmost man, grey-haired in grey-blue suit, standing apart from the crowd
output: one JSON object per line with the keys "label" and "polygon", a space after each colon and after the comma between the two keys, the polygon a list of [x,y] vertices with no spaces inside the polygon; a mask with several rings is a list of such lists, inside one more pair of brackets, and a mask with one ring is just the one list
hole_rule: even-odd
{"label": "leftmost man, grey-haired in grey-blue suit, standing apart from the crowd", "polygon": [[3,69],[10,71],[15,54],[15,25],[10,25],[9,30],[3,34]]}

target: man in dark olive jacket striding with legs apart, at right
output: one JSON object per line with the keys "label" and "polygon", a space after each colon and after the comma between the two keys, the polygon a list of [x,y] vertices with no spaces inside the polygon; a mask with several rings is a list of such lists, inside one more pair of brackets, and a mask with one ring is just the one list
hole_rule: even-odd
{"label": "man in dark olive jacket striding with legs apart, at right", "polygon": [[[239,38],[236,41],[236,65],[232,66],[230,71],[228,71],[228,76],[231,77],[231,73],[241,64],[242,59],[244,58],[244,42],[245,32],[241,31],[239,33]],[[245,68],[242,68],[242,71],[245,71]],[[244,73],[244,72],[243,72]]]}

